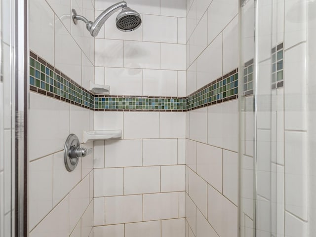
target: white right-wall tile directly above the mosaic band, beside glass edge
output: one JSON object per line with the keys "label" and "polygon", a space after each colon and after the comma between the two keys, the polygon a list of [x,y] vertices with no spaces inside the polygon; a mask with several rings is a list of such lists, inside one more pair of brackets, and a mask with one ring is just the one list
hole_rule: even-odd
{"label": "white right-wall tile directly above the mosaic band, beside glass edge", "polygon": [[238,16],[223,31],[223,75],[238,67]]}

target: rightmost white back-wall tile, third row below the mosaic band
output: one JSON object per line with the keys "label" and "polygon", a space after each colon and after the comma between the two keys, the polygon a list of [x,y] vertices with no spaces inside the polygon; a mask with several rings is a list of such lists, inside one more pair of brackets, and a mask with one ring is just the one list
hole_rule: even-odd
{"label": "rightmost white back-wall tile, third row below the mosaic band", "polygon": [[161,166],[161,192],[185,191],[185,165]]}

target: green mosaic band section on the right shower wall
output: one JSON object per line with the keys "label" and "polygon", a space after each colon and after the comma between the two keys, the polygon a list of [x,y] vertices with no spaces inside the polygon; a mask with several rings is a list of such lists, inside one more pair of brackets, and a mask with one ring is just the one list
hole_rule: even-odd
{"label": "green mosaic band section on the right shower wall", "polygon": [[187,97],[187,111],[238,98],[238,69],[208,83]]}

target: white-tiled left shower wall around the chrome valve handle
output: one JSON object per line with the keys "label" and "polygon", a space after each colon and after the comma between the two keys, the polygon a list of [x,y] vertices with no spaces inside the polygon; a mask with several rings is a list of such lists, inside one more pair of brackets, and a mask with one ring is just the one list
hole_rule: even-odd
{"label": "white-tiled left shower wall around the chrome valve handle", "polygon": [[[30,50],[87,89],[94,79],[94,39],[84,24],[74,25],[71,8],[94,18],[91,0],[30,0]],[[67,136],[75,133],[82,141],[83,131],[93,130],[93,116],[89,109],[30,91],[30,237],[93,236],[93,154],[73,172],[63,160]]]}

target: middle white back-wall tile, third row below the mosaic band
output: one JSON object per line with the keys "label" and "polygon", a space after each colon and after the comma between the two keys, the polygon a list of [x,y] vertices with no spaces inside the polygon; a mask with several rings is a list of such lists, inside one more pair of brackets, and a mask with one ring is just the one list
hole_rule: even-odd
{"label": "middle white back-wall tile, third row below the mosaic band", "polygon": [[124,168],[124,195],[159,192],[159,166]]}

